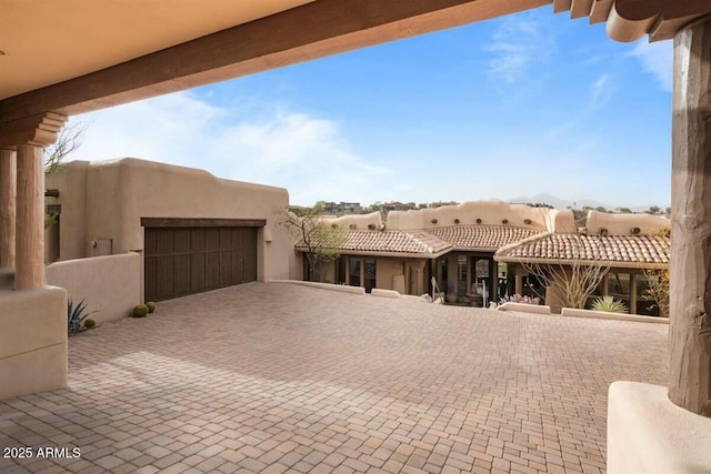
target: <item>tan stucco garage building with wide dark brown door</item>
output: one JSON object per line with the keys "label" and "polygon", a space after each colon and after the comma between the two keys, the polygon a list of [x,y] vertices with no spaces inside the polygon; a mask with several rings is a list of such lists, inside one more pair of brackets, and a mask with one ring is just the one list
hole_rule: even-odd
{"label": "tan stucco garage building with wide dark brown door", "polygon": [[292,242],[277,225],[284,189],[137,159],[69,162],[47,188],[58,191],[46,201],[59,213],[47,261],[137,252],[146,301],[298,276]]}

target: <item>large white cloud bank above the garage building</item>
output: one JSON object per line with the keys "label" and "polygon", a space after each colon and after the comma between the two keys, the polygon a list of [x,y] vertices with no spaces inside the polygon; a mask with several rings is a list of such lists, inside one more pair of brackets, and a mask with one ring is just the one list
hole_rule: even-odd
{"label": "large white cloud bank above the garage building", "polygon": [[[270,109],[276,111],[264,114]],[[219,178],[287,188],[297,204],[374,201],[392,178],[388,168],[354,153],[336,122],[271,104],[257,119],[179,92],[76,120],[88,128],[73,160],[133,157],[200,168]]]}

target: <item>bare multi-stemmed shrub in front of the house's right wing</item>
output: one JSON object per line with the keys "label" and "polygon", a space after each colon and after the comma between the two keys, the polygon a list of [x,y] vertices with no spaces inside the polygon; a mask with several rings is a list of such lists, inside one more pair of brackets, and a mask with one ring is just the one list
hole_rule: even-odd
{"label": "bare multi-stemmed shrub in front of the house's right wing", "polygon": [[[547,289],[547,295],[555,294],[564,307],[584,309],[588,299],[610,271],[601,260],[583,260],[583,239],[591,240],[593,246],[600,248],[599,238],[572,234],[571,258],[560,263],[523,263],[523,268],[535,275]],[[593,252],[600,255],[600,252]],[[539,294],[541,297],[545,295]]]}

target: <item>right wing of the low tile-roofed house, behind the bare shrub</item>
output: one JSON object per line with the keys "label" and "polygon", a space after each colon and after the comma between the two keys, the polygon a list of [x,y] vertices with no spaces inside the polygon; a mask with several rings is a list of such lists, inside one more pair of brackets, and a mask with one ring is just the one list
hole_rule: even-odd
{"label": "right wing of the low tile-roofed house, behind the bare shrub", "polygon": [[[569,272],[573,265],[601,265],[608,270],[593,296],[612,295],[633,314],[659,315],[647,294],[645,270],[669,268],[671,221],[650,214],[588,213],[585,228],[575,232],[547,232],[501,248],[494,255],[517,275],[527,275],[532,265],[553,265]],[[514,292],[543,296],[554,312],[561,307],[550,289],[531,291],[517,279]],[[592,297],[588,301],[588,307]]]}

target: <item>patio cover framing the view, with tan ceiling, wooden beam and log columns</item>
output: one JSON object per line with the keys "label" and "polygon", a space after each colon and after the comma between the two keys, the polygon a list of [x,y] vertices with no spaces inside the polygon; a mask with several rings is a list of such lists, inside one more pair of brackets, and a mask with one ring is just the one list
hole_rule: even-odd
{"label": "patio cover framing the view, with tan ceiling, wooden beam and log columns", "polygon": [[42,148],[69,115],[547,4],[674,40],[669,395],[711,416],[709,0],[1,0],[0,266],[42,297]]}

